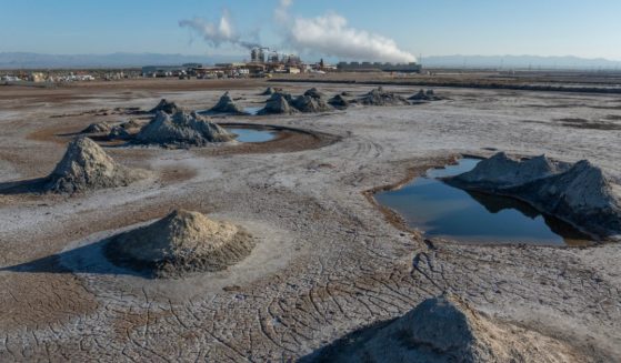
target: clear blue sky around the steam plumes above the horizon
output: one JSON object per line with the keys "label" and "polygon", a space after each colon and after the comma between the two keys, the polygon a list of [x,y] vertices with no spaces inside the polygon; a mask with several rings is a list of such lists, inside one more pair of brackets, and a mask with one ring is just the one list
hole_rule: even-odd
{"label": "clear blue sky around the steam plumes above the horizon", "polygon": [[[381,7],[378,6],[381,3]],[[157,52],[246,54],[214,49],[179,20],[218,20],[228,9],[236,31],[279,49],[278,0],[0,0],[0,52]],[[538,54],[621,60],[619,0],[294,0],[289,14],[327,12],[348,27],[381,34],[411,54]],[[293,50],[293,49],[291,49]]]}

